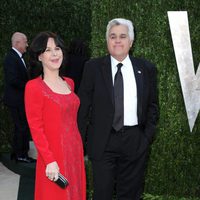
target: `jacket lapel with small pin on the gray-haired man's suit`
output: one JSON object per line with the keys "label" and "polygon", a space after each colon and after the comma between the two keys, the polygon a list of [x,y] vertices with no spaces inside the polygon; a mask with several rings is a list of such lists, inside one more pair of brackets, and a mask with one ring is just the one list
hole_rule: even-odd
{"label": "jacket lapel with small pin on the gray-haired man's suit", "polygon": [[140,116],[142,114],[142,101],[143,101],[143,71],[142,67],[140,66],[141,63],[137,62],[136,59],[133,57],[131,58],[131,62],[133,65],[133,71],[135,74],[135,81],[136,81],[136,87],[137,87],[137,112],[138,112],[138,120],[140,120]]}

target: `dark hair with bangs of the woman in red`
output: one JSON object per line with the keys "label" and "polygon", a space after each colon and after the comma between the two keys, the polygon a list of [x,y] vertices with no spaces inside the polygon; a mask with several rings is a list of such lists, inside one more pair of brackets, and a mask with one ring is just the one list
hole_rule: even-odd
{"label": "dark hair with bangs of the woman in red", "polygon": [[33,39],[29,47],[29,78],[33,79],[40,75],[43,76],[43,67],[42,63],[38,60],[38,57],[41,53],[44,53],[47,48],[47,42],[49,38],[53,38],[56,46],[60,47],[63,52],[63,62],[59,69],[59,74],[61,74],[61,68],[66,62],[66,49],[63,40],[55,33],[50,31],[40,32]]}

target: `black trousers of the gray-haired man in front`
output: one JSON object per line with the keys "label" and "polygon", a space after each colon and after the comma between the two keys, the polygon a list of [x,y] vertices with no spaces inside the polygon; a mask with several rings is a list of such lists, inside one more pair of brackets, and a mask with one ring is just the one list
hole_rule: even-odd
{"label": "black trousers of the gray-haired man in front", "polygon": [[[91,160],[94,200],[141,200],[149,143],[138,126],[111,131],[101,160]],[[114,190],[115,189],[115,190]]]}

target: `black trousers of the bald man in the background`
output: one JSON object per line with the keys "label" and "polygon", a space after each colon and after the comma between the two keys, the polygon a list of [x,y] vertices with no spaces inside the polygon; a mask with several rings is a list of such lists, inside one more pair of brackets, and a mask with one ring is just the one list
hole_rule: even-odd
{"label": "black trousers of the bald man in the background", "polygon": [[11,117],[14,123],[14,133],[12,140],[13,154],[18,157],[28,155],[30,132],[23,105],[10,107]]}

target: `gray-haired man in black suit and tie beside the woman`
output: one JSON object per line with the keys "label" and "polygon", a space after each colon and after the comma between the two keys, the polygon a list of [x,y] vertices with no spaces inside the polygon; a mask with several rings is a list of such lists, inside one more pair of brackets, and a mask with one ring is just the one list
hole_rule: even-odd
{"label": "gray-haired man in black suit and tie beside the woman", "polygon": [[110,55],[85,65],[79,129],[92,162],[94,200],[111,200],[115,186],[118,200],[139,200],[158,120],[156,68],[129,56],[130,20],[111,20],[106,40]]}

